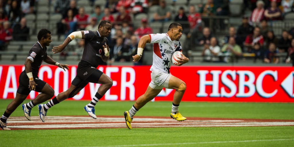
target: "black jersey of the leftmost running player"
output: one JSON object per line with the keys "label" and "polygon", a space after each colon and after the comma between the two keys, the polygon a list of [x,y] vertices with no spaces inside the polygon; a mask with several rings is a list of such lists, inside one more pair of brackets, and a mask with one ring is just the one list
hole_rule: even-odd
{"label": "black jersey of the leftmost running player", "polygon": [[33,63],[31,64],[33,76],[38,76],[40,66],[43,60],[47,57],[46,50],[47,47],[44,46],[44,48],[42,48],[41,44],[38,41],[29,51],[28,59],[33,61]]}

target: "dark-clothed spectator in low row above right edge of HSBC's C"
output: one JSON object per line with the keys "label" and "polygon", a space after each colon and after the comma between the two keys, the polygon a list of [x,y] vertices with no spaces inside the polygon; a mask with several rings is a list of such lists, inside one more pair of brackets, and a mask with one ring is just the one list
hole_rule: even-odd
{"label": "dark-clothed spectator in low row above right edge of HSBC's C", "polygon": [[263,62],[265,63],[279,63],[279,58],[277,56],[278,51],[274,43],[270,43],[268,49],[265,51]]}

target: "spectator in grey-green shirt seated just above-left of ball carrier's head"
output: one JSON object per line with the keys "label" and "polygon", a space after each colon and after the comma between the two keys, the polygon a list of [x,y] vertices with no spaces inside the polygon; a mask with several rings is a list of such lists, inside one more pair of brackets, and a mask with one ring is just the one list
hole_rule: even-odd
{"label": "spectator in grey-green shirt seated just above-left of ball carrier's head", "polygon": [[171,9],[169,6],[166,6],[166,1],[161,0],[159,2],[160,7],[154,13],[153,19],[151,21],[160,21],[166,22],[171,20]]}

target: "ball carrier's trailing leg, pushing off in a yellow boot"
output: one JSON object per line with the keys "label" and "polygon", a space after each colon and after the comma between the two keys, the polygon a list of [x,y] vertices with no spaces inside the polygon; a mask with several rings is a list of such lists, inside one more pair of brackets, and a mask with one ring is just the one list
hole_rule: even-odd
{"label": "ball carrier's trailing leg, pushing off in a yellow boot", "polygon": [[135,104],[132,106],[132,108],[129,111],[125,111],[123,113],[126,121],[126,125],[129,129],[132,129],[131,122],[133,120],[133,116],[136,114],[136,112],[142,108],[146,103],[151,101],[155,96],[157,96],[162,89],[153,89],[150,86],[148,86],[146,92],[140,96]]}

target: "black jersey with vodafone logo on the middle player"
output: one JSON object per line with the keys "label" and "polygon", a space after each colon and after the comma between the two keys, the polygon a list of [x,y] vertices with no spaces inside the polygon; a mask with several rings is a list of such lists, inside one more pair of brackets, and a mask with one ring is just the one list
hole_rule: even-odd
{"label": "black jersey with vodafone logo on the middle player", "polygon": [[86,61],[97,68],[101,57],[104,55],[103,45],[105,42],[108,45],[108,39],[106,37],[100,37],[98,31],[84,31],[84,34],[85,47],[81,61]]}

